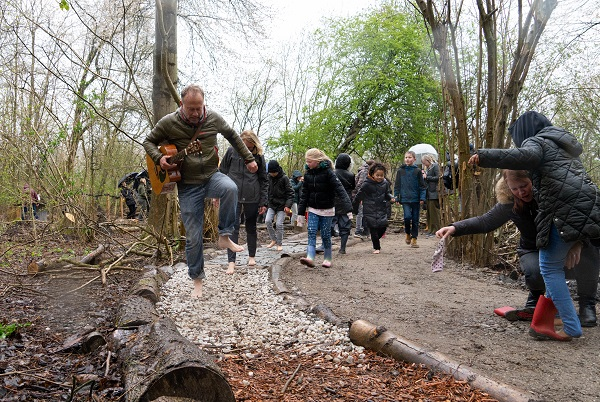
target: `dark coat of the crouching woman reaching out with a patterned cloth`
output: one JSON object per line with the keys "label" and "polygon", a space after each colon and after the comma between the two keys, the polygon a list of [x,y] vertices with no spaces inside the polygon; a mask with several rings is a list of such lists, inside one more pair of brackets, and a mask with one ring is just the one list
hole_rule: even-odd
{"label": "dark coat of the crouching woman reaching out with a patterned cloth", "polygon": [[513,221],[521,233],[517,248],[519,255],[537,251],[537,228],[535,225],[537,202],[533,200],[526,203],[521,212],[515,212],[513,208],[514,196],[504,183],[503,178],[496,184],[496,198],[498,203],[485,214],[454,222],[452,224],[456,228],[454,236],[488,233],[498,229],[508,221]]}

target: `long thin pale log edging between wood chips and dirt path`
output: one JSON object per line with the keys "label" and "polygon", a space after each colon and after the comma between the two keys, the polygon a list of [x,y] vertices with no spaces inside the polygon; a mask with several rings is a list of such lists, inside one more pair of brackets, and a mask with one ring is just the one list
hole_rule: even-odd
{"label": "long thin pale log edging between wood chips and dirt path", "polygon": [[453,362],[442,353],[426,350],[423,347],[393,334],[384,327],[377,327],[364,320],[356,320],[350,327],[350,340],[359,346],[391,356],[399,361],[423,364],[433,370],[451,375],[456,380],[465,381],[472,387],[488,393],[499,401],[534,402],[533,395],[491,380],[474,372],[471,368]]}

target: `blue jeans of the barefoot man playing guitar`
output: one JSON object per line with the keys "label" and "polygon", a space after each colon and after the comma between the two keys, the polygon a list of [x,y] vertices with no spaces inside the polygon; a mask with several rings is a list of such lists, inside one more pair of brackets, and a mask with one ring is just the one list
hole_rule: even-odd
{"label": "blue jeans of the barefoot man playing guitar", "polygon": [[204,279],[204,199],[218,198],[219,236],[231,236],[235,227],[238,189],[234,181],[216,172],[204,184],[178,184],[179,208],[185,227],[185,256],[192,279]]}

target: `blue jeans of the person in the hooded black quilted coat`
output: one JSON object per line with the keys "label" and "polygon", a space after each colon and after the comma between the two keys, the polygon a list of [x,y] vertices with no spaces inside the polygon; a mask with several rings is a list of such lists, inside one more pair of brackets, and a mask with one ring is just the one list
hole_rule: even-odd
{"label": "blue jeans of the person in the hooded black quilted coat", "polygon": [[569,336],[580,337],[581,323],[565,281],[565,259],[574,242],[565,243],[554,224],[546,248],[540,249],[540,272],[546,285],[546,294],[552,299],[563,321],[563,329]]}

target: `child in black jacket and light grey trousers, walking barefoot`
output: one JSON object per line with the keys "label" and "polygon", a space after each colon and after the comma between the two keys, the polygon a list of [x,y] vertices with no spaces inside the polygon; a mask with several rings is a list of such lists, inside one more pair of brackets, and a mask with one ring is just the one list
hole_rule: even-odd
{"label": "child in black jacket and light grey trousers, walking barefoot", "polygon": [[[270,160],[267,169],[269,172],[269,209],[265,217],[265,224],[271,238],[271,243],[267,248],[277,245],[277,251],[281,251],[283,250],[283,222],[285,215],[292,212],[294,189],[290,179],[279,166],[279,162]],[[273,218],[275,216],[277,216],[277,220],[275,229],[273,229]]]}

